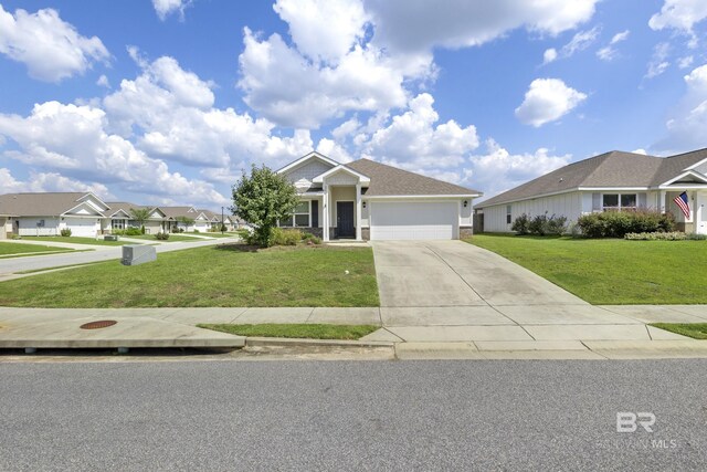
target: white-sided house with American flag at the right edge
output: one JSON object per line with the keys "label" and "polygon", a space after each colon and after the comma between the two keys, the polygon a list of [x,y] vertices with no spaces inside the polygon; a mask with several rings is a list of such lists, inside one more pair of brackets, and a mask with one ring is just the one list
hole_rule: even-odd
{"label": "white-sided house with American flag at the right edge", "polygon": [[[687,192],[685,218],[674,199]],[[520,214],[567,217],[636,208],[671,212],[678,228],[707,233],[707,149],[671,157],[611,151],[580,160],[476,204],[479,231],[509,232]]]}

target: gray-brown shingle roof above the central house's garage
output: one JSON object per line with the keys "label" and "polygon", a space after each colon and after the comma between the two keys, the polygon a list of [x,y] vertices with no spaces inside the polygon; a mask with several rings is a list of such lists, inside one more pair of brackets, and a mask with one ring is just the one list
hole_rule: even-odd
{"label": "gray-brown shingle roof above the central house's garage", "polygon": [[371,179],[370,186],[366,191],[367,197],[482,195],[478,190],[444,182],[369,159],[355,160],[346,164],[346,167]]}

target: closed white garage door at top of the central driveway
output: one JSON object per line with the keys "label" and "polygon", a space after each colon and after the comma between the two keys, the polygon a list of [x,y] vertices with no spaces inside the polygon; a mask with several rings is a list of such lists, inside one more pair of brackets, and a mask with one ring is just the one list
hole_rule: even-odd
{"label": "closed white garage door at top of the central driveway", "polygon": [[457,201],[371,202],[371,240],[458,238]]}

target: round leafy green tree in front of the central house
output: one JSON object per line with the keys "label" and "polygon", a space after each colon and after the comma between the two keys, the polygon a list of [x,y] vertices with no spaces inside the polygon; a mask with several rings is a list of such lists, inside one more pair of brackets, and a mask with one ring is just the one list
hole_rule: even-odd
{"label": "round leafy green tree in front of the central house", "polygon": [[289,217],[299,199],[297,190],[284,176],[270,168],[253,165],[251,175],[233,186],[233,214],[254,227],[254,241],[263,247],[272,244],[277,220]]}

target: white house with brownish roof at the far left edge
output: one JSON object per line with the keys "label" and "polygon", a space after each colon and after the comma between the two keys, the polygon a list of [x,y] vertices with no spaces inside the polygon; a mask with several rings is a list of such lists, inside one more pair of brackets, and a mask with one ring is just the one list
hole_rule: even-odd
{"label": "white house with brownish roof at the far left edge", "polygon": [[72,235],[95,238],[108,206],[92,192],[7,193],[0,196],[0,214],[6,220],[6,234],[60,235],[68,229]]}

